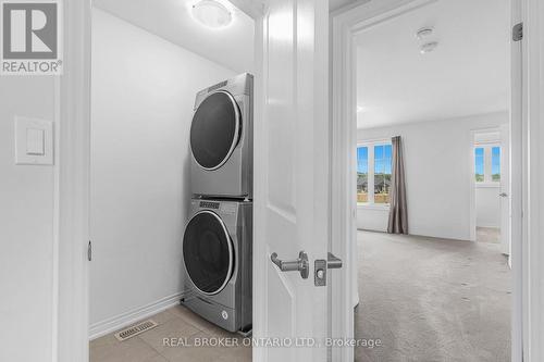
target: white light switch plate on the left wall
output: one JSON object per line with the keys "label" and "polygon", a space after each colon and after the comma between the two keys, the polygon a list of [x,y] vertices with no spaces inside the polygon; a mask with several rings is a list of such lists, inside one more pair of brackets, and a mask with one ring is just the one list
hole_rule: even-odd
{"label": "white light switch plate on the left wall", "polygon": [[53,164],[53,123],[15,116],[15,164]]}

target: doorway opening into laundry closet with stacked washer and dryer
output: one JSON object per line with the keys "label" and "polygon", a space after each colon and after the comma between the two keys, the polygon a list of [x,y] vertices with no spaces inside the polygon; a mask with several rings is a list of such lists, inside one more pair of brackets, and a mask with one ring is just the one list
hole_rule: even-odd
{"label": "doorway opening into laundry closet with stacked washer and dryer", "polygon": [[[196,17],[194,3],[161,1],[149,8],[146,1],[94,1],[91,362],[251,361],[251,346],[244,346],[245,336],[233,332],[236,323],[251,324],[251,296],[246,291],[240,302],[242,292],[237,294],[251,283],[240,276],[251,273],[250,266],[245,267],[250,263],[243,262],[251,258],[251,248],[243,251],[240,241],[244,237],[248,242],[251,230],[239,226],[244,232],[237,234],[236,222],[227,220],[230,214],[223,211],[239,204],[232,199],[207,200],[209,204],[197,210],[201,203],[191,187],[195,151],[189,149],[195,141],[189,138],[196,104],[205,104],[201,95],[208,89],[212,95],[223,90],[206,99],[217,101],[215,110],[220,104],[230,111],[224,113],[232,113],[231,122],[224,123],[233,125],[233,138],[243,137],[239,124],[250,129],[243,107],[249,109],[249,100],[233,103],[231,99],[245,93],[224,89],[223,84],[240,74],[240,83],[247,78],[249,84],[245,74],[255,67],[255,21],[231,5],[232,23],[210,29]],[[226,138],[228,130],[225,126],[219,134]],[[217,149],[201,152],[222,154]],[[221,159],[205,161],[222,164]],[[247,204],[236,212],[250,220]],[[213,320],[215,315],[219,320]],[[221,348],[223,339],[231,346]]]}

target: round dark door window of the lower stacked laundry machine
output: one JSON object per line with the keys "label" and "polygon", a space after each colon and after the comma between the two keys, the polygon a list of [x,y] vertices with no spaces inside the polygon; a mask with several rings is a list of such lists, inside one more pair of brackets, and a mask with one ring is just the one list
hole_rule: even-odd
{"label": "round dark door window of the lower stacked laundry machine", "polygon": [[206,295],[223,290],[231,279],[234,253],[226,227],[215,213],[200,211],[189,221],[183,237],[183,259],[198,290]]}

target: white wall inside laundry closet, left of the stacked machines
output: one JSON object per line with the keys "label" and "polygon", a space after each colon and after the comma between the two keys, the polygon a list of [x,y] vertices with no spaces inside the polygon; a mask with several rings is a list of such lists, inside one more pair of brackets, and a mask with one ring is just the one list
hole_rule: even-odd
{"label": "white wall inside laundry closet, left of the stacked machines", "polygon": [[182,291],[195,95],[234,72],[92,14],[90,322],[100,333]]}

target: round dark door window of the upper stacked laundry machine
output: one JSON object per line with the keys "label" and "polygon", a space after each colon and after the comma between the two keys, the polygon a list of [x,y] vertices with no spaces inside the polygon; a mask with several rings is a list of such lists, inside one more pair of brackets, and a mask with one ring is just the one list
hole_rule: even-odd
{"label": "round dark door window of the upper stacked laundry machine", "polygon": [[206,170],[221,167],[238,143],[240,115],[231,93],[220,90],[198,105],[190,125],[190,150]]}

